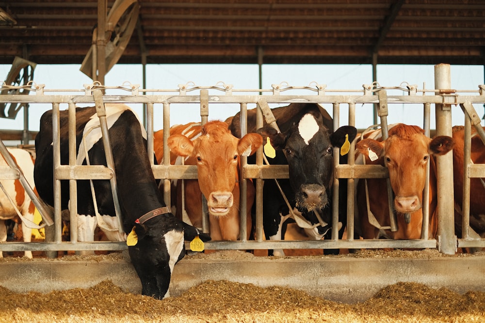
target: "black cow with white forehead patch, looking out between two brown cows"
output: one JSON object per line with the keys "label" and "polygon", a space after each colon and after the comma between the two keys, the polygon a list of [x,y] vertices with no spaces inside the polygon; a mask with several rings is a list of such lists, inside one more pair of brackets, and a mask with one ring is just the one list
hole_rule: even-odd
{"label": "black cow with white forehead patch, looking out between two brown cows", "polygon": [[[274,108],[272,112],[281,131],[266,125],[256,129],[256,110],[248,110],[248,132],[258,132],[270,138],[275,148],[275,157],[267,156],[271,165],[289,165],[289,180],[278,180],[293,212],[297,224],[305,228],[310,237],[320,240],[331,237],[332,228],[332,183],[334,174],[333,148],[341,147],[348,135],[352,142],[357,129],[342,126],[333,132],[330,115],[317,104],[293,103],[286,107]],[[237,137],[240,133],[239,113],[232,119],[230,130]],[[347,155],[340,157],[340,163],[347,163]],[[339,236],[345,229],[347,208],[347,185],[345,180],[339,185]],[[316,213],[320,215],[319,221]],[[298,217],[303,216],[303,219]],[[300,220],[301,219],[301,220]],[[263,186],[263,227],[266,239],[284,238],[289,220],[289,209],[274,182],[265,180]],[[306,223],[305,223],[306,222]],[[317,225],[319,224],[320,225]],[[322,225],[323,223],[323,225]],[[325,250],[336,253],[338,250]],[[284,255],[283,250],[269,250],[269,254]]]}

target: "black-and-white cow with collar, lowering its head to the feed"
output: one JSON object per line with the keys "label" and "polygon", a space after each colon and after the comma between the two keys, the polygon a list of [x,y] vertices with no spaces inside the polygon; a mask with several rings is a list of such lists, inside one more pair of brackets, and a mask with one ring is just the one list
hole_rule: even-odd
{"label": "black-and-white cow with collar, lowering its head to the feed", "polygon": [[[162,299],[169,296],[168,287],[174,265],[185,255],[184,239],[192,240],[197,231],[179,221],[166,208],[153,176],[146,151],[146,132],[137,116],[123,104],[107,104],[107,123],[113,151],[116,186],[123,217],[123,229],[136,232],[138,242],[129,246],[131,262],[140,277],[142,294]],[[60,111],[61,164],[68,163],[68,111]],[[85,136],[83,138],[83,135]],[[99,119],[95,107],[76,108],[77,163],[86,165],[84,147],[90,165],[105,165],[106,157],[100,140]],[[40,119],[40,131],[35,138],[36,161],[34,180],[39,196],[54,205],[52,111]],[[126,233],[116,229],[113,196],[109,180],[94,180],[98,216],[89,181],[78,180],[78,237],[92,241],[99,216],[107,236],[126,240]],[[69,205],[69,184],[61,181],[61,207]],[[109,227],[113,228],[111,230]],[[207,235],[200,235],[209,240]]]}

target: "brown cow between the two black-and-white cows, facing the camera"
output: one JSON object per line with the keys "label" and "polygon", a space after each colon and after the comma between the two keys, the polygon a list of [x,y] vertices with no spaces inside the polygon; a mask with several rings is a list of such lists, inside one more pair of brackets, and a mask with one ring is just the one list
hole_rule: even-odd
{"label": "brown cow between the two black-and-white cows, facing the camera", "polygon": [[[162,145],[160,140],[160,135],[156,134],[155,147]],[[170,129],[168,145],[171,149],[171,164],[176,163],[179,155],[187,157],[185,165],[197,166],[198,180],[185,181],[185,210],[193,225],[202,227],[204,194],[209,208],[210,236],[213,241],[240,238],[240,155],[254,154],[261,144],[262,138],[258,134],[247,134],[241,139],[232,136],[227,123],[222,121],[211,121],[202,127],[189,123]],[[159,162],[162,159],[160,156],[160,153],[157,154]],[[249,238],[255,189],[250,180],[247,180],[247,184],[246,221]],[[180,185],[177,186],[177,195],[180,197]],[[177,200],[177,215],[181,216],[180,199]]]}

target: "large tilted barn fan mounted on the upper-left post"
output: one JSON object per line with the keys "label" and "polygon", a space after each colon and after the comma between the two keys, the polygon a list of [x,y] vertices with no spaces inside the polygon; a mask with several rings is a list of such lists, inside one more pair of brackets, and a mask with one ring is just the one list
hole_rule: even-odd
{"label": "large tilted barn fan mounted on the upper-left post", "polygon": [[[116,0],[106,17],[106,73],[118,62],[133,33],[140,7],[137,0]],[[97,74],[96,68],[97,28],[93,31],[93,45],[81,64],[81,72],[91,79]]]}

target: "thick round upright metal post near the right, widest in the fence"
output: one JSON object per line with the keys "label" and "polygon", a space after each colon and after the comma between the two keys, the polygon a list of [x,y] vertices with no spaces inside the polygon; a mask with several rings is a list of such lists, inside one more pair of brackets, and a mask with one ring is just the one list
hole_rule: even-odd
{"label": "thick round upright metal post near the right, widest in the fence", "polygon": [[[451,89],[449,64],[435,65],[435,89]],[[446,95],[442,95],[443,101]],[[452,136],[452,111],[447,103],[436,104],[436,135]],[[438,211],[438,250],[444,254],[456,251],[454,235],[454,201],[453,201],[453,154],[436,156],[437,211]]]}

